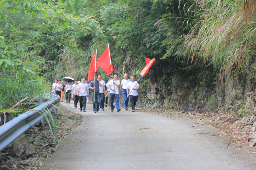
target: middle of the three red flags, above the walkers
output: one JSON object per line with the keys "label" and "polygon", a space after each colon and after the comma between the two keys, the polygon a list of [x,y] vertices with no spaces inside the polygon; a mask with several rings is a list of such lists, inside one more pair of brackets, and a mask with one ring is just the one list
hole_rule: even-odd
{"label": "middle of the three red flags, above the walkers", "polygon": [[99,57],[98,59],[98,65],[101,67],[101,69],[108,74],[111,74],[111,72],[114,71],[113,64],[111,62],[111,57],[110,57],[110,52],[109,52],[109,47],[108,44],[106,46],[105,51]]}

